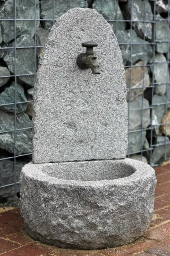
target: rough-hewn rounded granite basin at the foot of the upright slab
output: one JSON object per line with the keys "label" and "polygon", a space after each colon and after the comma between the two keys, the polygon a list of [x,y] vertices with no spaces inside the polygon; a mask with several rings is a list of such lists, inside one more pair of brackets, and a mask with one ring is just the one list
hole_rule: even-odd
{"label": "rough-hewn rounded granite basin at the foot of the upright slab", "polygon": [[121,246],[154,210],[155,171],[132,159],[25,165],[20,210],[28,235],[64,248]]}

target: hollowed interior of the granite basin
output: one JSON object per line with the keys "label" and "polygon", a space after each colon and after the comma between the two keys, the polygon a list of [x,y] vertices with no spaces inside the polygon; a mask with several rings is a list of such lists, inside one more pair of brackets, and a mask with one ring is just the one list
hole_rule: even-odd
{"label": "hollowed interior of the granite basin", "polygon": [[43,172],[62,180],[114,180],[128,177],[135,172],[133,166],[121,160],[52,163]]}

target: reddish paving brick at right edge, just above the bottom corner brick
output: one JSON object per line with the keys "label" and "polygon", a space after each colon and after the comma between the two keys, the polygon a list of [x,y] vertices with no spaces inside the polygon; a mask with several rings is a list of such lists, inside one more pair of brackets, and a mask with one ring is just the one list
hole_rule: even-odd
{"label": "reddish paving brick at right edge, just above the bottom corner brick", "polygon": [[164,242],[170,239],[170,222],[157,228],[149,229],[144,236],[158,242]]}

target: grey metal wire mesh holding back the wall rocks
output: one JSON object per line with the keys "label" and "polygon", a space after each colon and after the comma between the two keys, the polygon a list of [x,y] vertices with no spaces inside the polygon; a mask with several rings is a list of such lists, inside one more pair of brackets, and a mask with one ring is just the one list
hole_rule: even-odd
{"label": "grey metal wire mesh holding back the wall rocks", "polygon": [[[2,1],[2,0],[1,0]],[[0,6],[3,5],[5,2],[1,2],[0,1]],[[5,0],[4,0],[5,1]],[[8,0],[7,0],[8,1]],[[14,22],[14,39],[13,39],[13,42],[14,42],[14,45],[13,46],[9,46],[9,45],[1,45],[1,51],[3,50],[6,50],[6,49],[12,49],[14,51],[14,71],[13,73],[11,72],[11,75],[10,76],[2,76],[0,74],[0,78],[7,78],[7,77],[10,77],[11,81],[15,81],[15,94],[14,94],[14,101],[11,102],[11,103],[6,103],[6,104],[1,104],[0,102],[0,107],[5,107],[5,106],[10,106],[10,105],[14,105],[14,129],[12,130],[2,130],[0,131],[0,137],[3,136],[3,134],[9,134],[9,133],[13,133],[13,153],[10,153],[10,154],[7,154],[7,155],[4,155],[4,157],[2,157],[0,160],[1,161],[12,161],[13,162],[13,182],[11,182],[10,184],[9,183],[5,183],[5,184],[2,184],[2,186],[0,186],[0,196],[1,196],[1,189],[5,189],[6,187],[14,187],[14,190],[15,190],[15,195],[17,194],[18,192],[18,185],[19,185],[19,180],[18,180],[18,177],[16,175],[16,161],[18,161],[18,159],[23,159],[23,157],[30,157],[31,156],[31,152],[29,153],[26,153],[26,154],[17,154],[16,152],[16,140],[17,140],[17,134],[19,134],[20,132],[22,131],[25,131],[27,129],[31,129],[31,127],[23,127],[23,128],[18,128],[17,125],[16,125],[16,116],[17,116],[17,111],[16,111],[16,108],[18,105],[22,105],[22,104],[25,104],[25,103],[30,103],[32,102],[32,100],[27,100],[27,101],[17,101],[17,90],[16,90],[16,86],[17,86],[17,82],[18,82],[18,79],[25,76],[25,77],[30,77],[30,76],[33,76],[35,77],[35,81],[36,81],[36,71],[37,71],[37,58],[38,58],[38,55],[37,55],[37,51],[39,51],[39,49],[41,49],[41,47],[43,45],[37,45],[37,38],[36,38],[36,30],[37,30],[37,24],[42,24],[44,21],[50,21],[52,22],[53,24],[55,23],[55,10],[56,10],[56,1],[53,0],[53,6],[52,6],[52,15],[50,14],[50,17],[48,19],[43,19],[41,17],[38,17],[37,18],[37,2],[38,0],[35,0],[35,9],[34,9],[34,17],[32,19],[21,19],[20,17],[18,17],[18,14],[16,12],[16,5],[17,5],[17,2],[19,0],[13,0],[13,8],[14,8],[14,17],[13,19],[8,19],[8,17],[5,17],[4,19],[0,19],[0,22],[2,21],[10,21],[10,22]],[[74,6],[72,6],[72,1],[71,0],[67,0],[69,3],[70,3],[70,9]],[[140,0],[139,0],[140,1]],[[143,0],[141,0],[143,1]],[[131,84],[132,84],[132,68],[133,67],[136,67],[136,64],[133,64],[132,63],[132,55],[133,55],[133,47],[136,46],[136,45],[142,45],[143,46],[143,59],[145,59],[145,53],[146,53],[146,24],[147,23],[150,23],[151,26],[152,26],[152,38],[149,42],[149,44],[151,45],[152,47],[152,62],[151,63],[145,63],[143,62],[142,65],[138,65],[138,67],[141,67],[143,68],[143,70],[145,70],[145,68],[147,68],[148,70],[150,68],[152,68],[152,74],[154,74],[154,68],[155,68],[155,65],[157,64],[157,62],[155,61],[155,52],[156,52],[156,44],[157,43],[167,43],[168,44],[168,49],[169,49],[169,34],[168,34],[168,39],[167,41],[160,41],[160,40],[157,40],[156,39],[156,23],[157,21],[162,21],[162,19],[157,19],[156,18],[156,1],[157,0],[150,0],[150,4],[152,6],[152,19],[151,20],[147,20],[146,19],[146,15],[145,15],[145,10],[146,10],[146,1],[148,0],[144,0],[144,9],[143,10],[140,10],[141,12],[143,12],[143,19],[141,20],[137,20],[137,19],[133,19],[133,8],[134,8],[134,0],[129,0],[130,4],[131,4],[131,19],[118,19],[118,9],[120,8],[120,6],[124,3],[119,3],[118,4],[118,1],[116,3],[116,18],[113,17],[113,19],[109,19],[107,20],[109,23],[111,23],[111,25],[114,24],[114,33],[115,35],[117,35],[117,31],[119,30],[118,29],[118,26],[121,24],[121,23],[125,23],[126,22],[126,27],[128,26],[128,29],[130,29],[130,42],[123,42],[123,43],[120,43],[120,47],[121,46],[125,46],[127,45],[127,47],[130,47],[130,61],[126,63],[125,65],[125,69],[128,69],[130,68],[130,90],[129,90],[129,99],[128,99],[128,117],[130,119],[130,115],[132,113],[132,111],[139,111],[140,110],[140,116],[141,116],[141,124],[140,124],[140,127],[138,127],[137,130],[131,130],[130,129],[130,124],[129,124],[129,137],[131,136],[131,134],[134,134],[134,133],[140,133],[140,135],[138,136],[138,145],[140,145],[140,149],[139,150],[135,150],[135,151],[132,151],[132,150],[128,150],[128,155],[127,157],[131,157],[131,155],[134,155],[134,154],[139,154],[141,156],[141,159],[142,159],[142,156],[147,156],[148,158],[148,163],[151,165],[151,166],[155,166],[153,163],[152,163],[152,152],[154,151],[154,148],[155,147],[162,147],[161,150],[163,149],[163,147],[165,148],[165,154],[164,154],[164,159],[167,159],[167,147],[169,145],[170,142],[168,142],[167,140],[165,140],[164,143],[154,143],[153,139],[154,139],[154,124],[152,122],[152,119],[153,119],[153,116],[154,116],[154,111],[155,111],[155,108],[157,106],[165,106],[165,122],[164,123],[159,123],[157,124],[158,126],[159,125],[165,125],[166,128],[167,126],[170,124],[169,122],[167,122],[167,111],[168,111],[168,104],[170,104],[170,102],[168,102],[168,97],[167,97],[167,93],[166,93],[166,100],[164,102],[158,102],[158,103],[154,103],[153,102],[153,99],[154,99],[154,94],[155,94],[155,86],[158,85],[158,83],[155,82],[155,77],[154,75],[152,75],[150,77],[150,84],[148,86],[145,85],[145,72],[143,71],[143,83],[142,83],[142,86],[138,86],[138,87],[131,87]],[[170,10],[170,3],[169,3],[170,0],[168,0],[168,12],[167,12],[167,15],[166,17],[164,17],[164,21],[167,21],[168,22],[168,26],[169,26],[169,10]],[[121,2],[121,1],[120,1]],[[123,1],[122,1],[123,2]],[[104,9],[104,5],[106,4],[105,0],[100,0],[100,3],[101,3],[101,14],[103,14],[103,9]],[[41,1],[39,3],[41,5]],[[79,7],[79,6],[77,6]],[[85,7],[92,7],[92,2],[86,0],[86,6]],[[25,15],[25,17],[27,17],[27,15]],[[51,18],[53,17],[53,18]],[[18,38],[18,34],[17,34],[17,22],[21,22],[21,21],[24,21],[24,22],[29,22],[29,21],[32,21],[32,26],[34,27],[35,29],[35,36],[33,37],[34,38],[34,42],[35,42],[35,45],[32,45],[32,46],[17,46],[16,45],[16,39]],[[134,28],[134,23],[135,22],[141,22],[143,24],[143,27],[144,27],[144,33],[143,33],[143,43],[139,43],[139,42],[133,42],[132,41],[132,29]],[[128,24],[128,25],[127,25]],[[39,26],[40,26],[39,25]],[[168,31],[167,31],[168,33]],[[18,74],[18,63],[16,63],[16,58],[17,58],[17,54],[18,54],[18,51],[20,49],[33,49],[34,50],[34,72],[32,74],[28,73],[28,74]],[[0,52],[1,53],[1,52]],[[162,64],[163,63],[166,63],[167,64],[167,79],[166,81],[163,82],[163,84],[166,84],[166,91],[168,90],[168,85],[169,85],[169,74],[168,74],[168,70],[169,70],[169,51],[167,52],[167,55],[166,55],[166,58],[167,58],[167,62],[161,62]],[[159,62],[160,63],[160,62]],[[159,85],[161,85],[161,83],[159,83]],[[150,94],[151,94],[151,100],[150,100],[150,104],[148,107],[144,107],[143,105],[143,100],[145,99],[144,98],[144,95],[145,95],[145,90],[146,88],[150,90]],[[131,94],[132,94],[132,91],[133,90],[137,90],[137,89],[141,89],[142,90],[142,101],[141,101],[141,106],[140,107],[137,107],[137,108],[131,108],[132,106],[132,101],[130,100],[131,98]],[[149,109],[150,111],[150,124],[147,126],[147,127],[143,127],[143,111],[144,110],[147,110]],[[165,129],[166,132],[165,132],[165,137],[167,136],[167,129]],[[149,147],[148,148],[143,148],[143,132],[146,132],[147,134],[147,138],[148,138],[148,142],[149,142]],[[129,142],[130,143],[130,142]],[[130,147],[129,147],[130,148]],[[6,153],[6,152],[5,152]],[[4,162],[6,163],[6,162]],[[0,170],[1,171],[1,170]],[[1,199],[1,198],[0,198]],[[15,203],[17,203],[17,197],[15,196]]]}

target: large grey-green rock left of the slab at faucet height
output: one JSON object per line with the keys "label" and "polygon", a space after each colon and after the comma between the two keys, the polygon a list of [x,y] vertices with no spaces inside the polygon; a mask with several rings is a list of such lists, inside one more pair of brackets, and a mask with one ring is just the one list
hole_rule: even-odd
{"label": "large grey-green rock left of the slab at faucet height", "polygon": [[[8,44],[9,47],[14,46],[14,42]],[[29,47],[34,46],[33,39],[29,35],[22,35],[16,39],[16,47]],[[5,61],[8,69],[12,74],[15,74],[14,63],[14,50],[8,49],[4,53],[3,60]],[[16,49],[16,74],[34,74],[35,73],[35,50],[33,48],[28,49]],[[24,83],[25,86],[30,87],[35,84],[35,76],[18,76],[18,82]]]}

